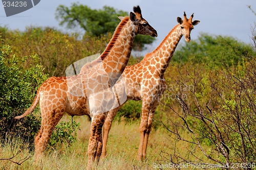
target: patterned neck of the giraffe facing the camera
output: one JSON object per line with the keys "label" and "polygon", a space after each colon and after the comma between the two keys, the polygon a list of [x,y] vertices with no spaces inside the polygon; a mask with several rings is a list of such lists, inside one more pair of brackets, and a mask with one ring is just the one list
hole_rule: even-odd
{"label": "patterned neck of the giraffe facing the camera", "polygon": [[176,25],[160,43],[160,45],[149,54],[146,54],[143,60],[149,60],[150,64],[155,64],[161,74],[168,67],[170,59],[172,59],[175,49],[182,38],[180,24]]}

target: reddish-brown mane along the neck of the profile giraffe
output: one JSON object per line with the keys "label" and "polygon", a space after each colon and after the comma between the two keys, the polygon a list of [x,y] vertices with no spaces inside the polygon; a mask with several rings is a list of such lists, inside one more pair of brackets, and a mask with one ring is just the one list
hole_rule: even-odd
{"label": "reddish-brown mane along the neck of the profile giraffe", "polygon": [[104,52],[101,54],[101,60],[104,60],[104,58],[106,56],[108,56],[109,52],[111,51],[112,47],[114,46],[118,36],[120,35],[121,31],[122,31],[122,28],[126,25],[126,23],[129,21],[130,17],[128,16],[125,16],[121,22],[119,23],[119,25],[117,26],[115,32],[114,32],[114,35],[113,37],[111,38],[108,46],[106,46]]}

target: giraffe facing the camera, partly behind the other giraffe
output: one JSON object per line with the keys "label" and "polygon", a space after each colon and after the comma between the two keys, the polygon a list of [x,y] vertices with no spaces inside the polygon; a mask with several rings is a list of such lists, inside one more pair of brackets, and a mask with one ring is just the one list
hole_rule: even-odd
{"label": "giraffe facing the camera, partly behind the other giraffe", "polygon": [[[191,30],[200,22],[199,20],[192,21],[193,16],[194,14],[187,19],[186,13],[184,12],[183,20],[178,17],[178,25],[168,33],[160,45],[153,52],[146,54],[140,63],[127,66],[123,71],[122,80],[114,86],[118,94],[126,94],[126,101],[142,100],[142,114],[139,127],[139,160],[146,158],[147,141],[152,127],[153,115],[159,104],[161,95],[166,89],[164,71],[182,36],[184,35],[185,40],[189,42]],[[118,96],[120,100],[120,95]],[[115,100],[115,103],[117,102]],[[113,119],[123,104],[111,109],[105,119],[103,126],[102,157],[106,155],[106,143]]]}

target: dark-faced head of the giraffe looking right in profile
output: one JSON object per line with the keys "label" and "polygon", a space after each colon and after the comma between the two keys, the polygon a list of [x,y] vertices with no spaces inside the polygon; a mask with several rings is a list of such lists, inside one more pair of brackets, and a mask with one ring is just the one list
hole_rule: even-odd
{"label": "dark-faced head of the giraffe looking right in profile", "polygon": [[[133,12],[130,12],[130,19],[135,26],[135,34],[151,35],[157,37],[157,31],[148,24],[148,22],[142,17],[141,9],[139,6],[133,7]],[[122,19],[121,17],[119,17]]]}

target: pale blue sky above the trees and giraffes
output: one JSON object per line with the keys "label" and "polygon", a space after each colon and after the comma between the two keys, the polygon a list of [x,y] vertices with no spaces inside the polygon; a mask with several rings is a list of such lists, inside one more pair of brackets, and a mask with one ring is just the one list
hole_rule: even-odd
{"label": "pale blue sky above the trees and giraffes", "polygon": [[[255,0],[112,0],[109,2],[103,0],[41,0],[35,7],[10,17],[6,17],[4,7],[1,5],[0,23],[1,26],[21,31],[25,30],[27,26],[55,27],[65,32],[79,31],[78,29],[68,30],[59,26],[59,21],[55,19],[55,11],[60,4],[69,7],[74,2],[87,5],[92,9],[101,9],[107,5],[127,12],[132,11],[133,6],[139,5],[143,17],[158,32],[157,40],[148,48],[148,52],[153,51],[160,44],[177,24],[177,17],[183,16],[183,11],[186,12],[187,16],[194,13],[194,19],[201,21],[191,32],[191,39],[197,39],[200,33],[208,33],[210,35],[232,36],[245,43],[251,43],[251,28],[256,21],[256,16],[247,7],[250,5],[256,11]],[[181,42],[185,43],[184,37]]]}

